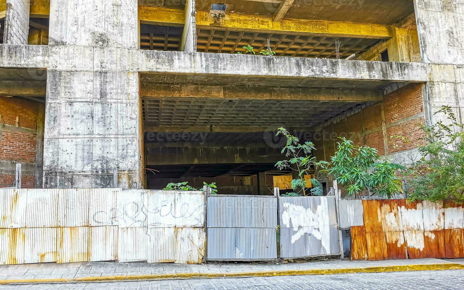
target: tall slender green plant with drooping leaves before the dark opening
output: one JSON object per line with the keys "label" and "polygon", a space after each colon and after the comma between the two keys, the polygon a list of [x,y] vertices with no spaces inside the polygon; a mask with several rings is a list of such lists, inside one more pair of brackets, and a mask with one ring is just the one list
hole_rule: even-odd
{"label": "tall slender green plant with drooping leaves before the dark opening", "polygon": [[[278,170],[290,168],[298,172],[298,178],[291,181],[291,188],[295,190],[295,192],[283,194],[282,196],[306,196],[308,182],[305,180],[304,175],[308,175],[309,171],[312,170],[316,164],[316,157],[311,155],[312,151],[315,150],[314,144],[312,142],[300,144],[298,137],[291,135],[289,131],[282,127],[277,130],[276,136],[284,136],[287,139],[281,153],[285,154],[285,157],[288,158],[283,161],[278,161],[275,165],[276,168]],[[310,193],[322,195],[321,183],[314,178],[310,179],[310,182],[311,185],[316,185],[310,190]]]}

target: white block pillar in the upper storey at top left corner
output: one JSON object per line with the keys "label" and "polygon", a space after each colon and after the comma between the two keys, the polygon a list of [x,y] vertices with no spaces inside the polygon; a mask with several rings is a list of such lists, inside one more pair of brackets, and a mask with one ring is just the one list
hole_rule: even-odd
{"label": "white block pillar in the upper storey at top left corner", "polygon": [[30,0],[6,0],[3,43],[27,44]]}

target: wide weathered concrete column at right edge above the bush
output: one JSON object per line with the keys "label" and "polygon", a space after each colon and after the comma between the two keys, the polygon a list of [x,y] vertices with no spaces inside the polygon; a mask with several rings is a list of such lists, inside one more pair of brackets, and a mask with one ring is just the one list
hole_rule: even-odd
{"label": "wide weathered concrete column at right edge above the bush", "polygon": [[425,86],[427,122],[447,120],[433,113],[451,106],[464,122],[464,1],[415,0],[423,62],[431,63],[431,81]]}

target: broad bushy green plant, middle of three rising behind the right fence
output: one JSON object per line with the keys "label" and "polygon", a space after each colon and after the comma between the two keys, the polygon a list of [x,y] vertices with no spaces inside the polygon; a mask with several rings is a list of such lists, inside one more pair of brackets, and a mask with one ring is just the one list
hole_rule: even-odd
{"label": "broad bushy green plant, middle of three rising behind the right fence", "polygon": [[340,138],[331,162],[315,164],[321,173],[330,174],[348,191],[348,195],[369,194],[391,198],[402,191],[402,183],[396,175],[405,168],[388,161],[380,162],[377,149],[357,146],[346,138]]}

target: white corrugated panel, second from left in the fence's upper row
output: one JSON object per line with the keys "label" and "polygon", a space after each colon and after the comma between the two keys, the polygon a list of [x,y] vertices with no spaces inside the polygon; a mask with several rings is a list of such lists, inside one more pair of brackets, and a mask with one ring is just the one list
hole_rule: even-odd
{"label": "white corrugated panel, second from left in the fence's upper row", "polygon": [[25,189],[26,227],[58,226],[58,192],[60,189]]}

